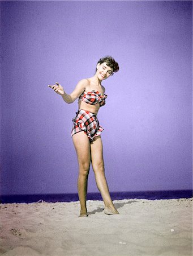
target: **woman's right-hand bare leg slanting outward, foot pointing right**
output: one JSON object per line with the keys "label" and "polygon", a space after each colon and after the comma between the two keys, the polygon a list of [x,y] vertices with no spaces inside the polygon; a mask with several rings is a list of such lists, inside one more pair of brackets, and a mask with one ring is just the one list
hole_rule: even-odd
{"label": "woman's right-hand bare leg slanting outward, foot pointing right", "polygon": [[115,209],[111,200],[108,184],[106,182],[102,141],[100,136],[97,136],[95,141],[91,143],[91,162],[93,171],[95,172],[96,184],[105,204],[104,213],[118,214],[118,211]]}

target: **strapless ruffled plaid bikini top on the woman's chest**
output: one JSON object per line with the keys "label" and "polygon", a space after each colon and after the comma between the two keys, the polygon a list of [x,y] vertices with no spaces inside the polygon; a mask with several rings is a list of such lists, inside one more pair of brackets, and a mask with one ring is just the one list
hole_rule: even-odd
{"label": "strapless ruffled plaid bikini top on the woman's chest", "polygon": [[79,100],[84,101],[85,103],[88,103],[90,105],[95,105],[99,103],[100,107],[105,105],[105,100],[107,98],[107,95],[101,95],[98,91],[91,90],[91,92],[83,92]]}

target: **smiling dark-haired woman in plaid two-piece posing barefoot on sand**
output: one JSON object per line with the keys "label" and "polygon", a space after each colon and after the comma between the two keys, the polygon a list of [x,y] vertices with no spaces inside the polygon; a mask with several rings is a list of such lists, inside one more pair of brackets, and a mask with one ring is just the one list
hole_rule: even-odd
{"label": "smiling dark-haired woman in plaid two-piece posing barefoot on sand", "polygon": [[101,193],[105,204],[104,213],[118,214],[113,202],[111,201],[108,184],[106,182],[104,159],[102,152],[101,131],[104,130],[98,122],[97,112],[101,106],[105,105],[107,95],[101,82],[112,76],[119,70],[118,63],[111,56],[101,58],[96,66],[95,76],[83,79],[78,82],[71,94],[67,94],[62,86],[57,82],[48,85],[55,93],[62,96],[68,104],[77,98],[79,110],[76,117],[72,119],[72,141],[75,146],[79,163],[78,195],[80,200],[80,216],[87,217],[87,180],[89,168],[92,163],[97,187]]}

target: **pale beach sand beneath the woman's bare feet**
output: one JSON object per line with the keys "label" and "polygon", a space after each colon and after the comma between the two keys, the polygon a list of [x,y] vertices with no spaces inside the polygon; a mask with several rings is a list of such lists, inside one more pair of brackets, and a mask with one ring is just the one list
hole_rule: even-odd
{"label": "pale beach sand beneath the woman's bare feet", "polygon": [[0,255],[192,255],[192,199],[0,204]]}

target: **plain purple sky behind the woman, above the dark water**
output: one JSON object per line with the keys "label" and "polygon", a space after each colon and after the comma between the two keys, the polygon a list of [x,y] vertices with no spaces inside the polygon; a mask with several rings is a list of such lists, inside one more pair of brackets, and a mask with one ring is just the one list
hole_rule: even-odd
{"label": "plain purple sky behind the woman, above the dark water", "polygon": [[[1,193],[74,193],[77,101],[112,55],[98,118],[110,191],[192,188],[191,1],[1,2]],[[97,192],[91,170],[88,192]]]}

